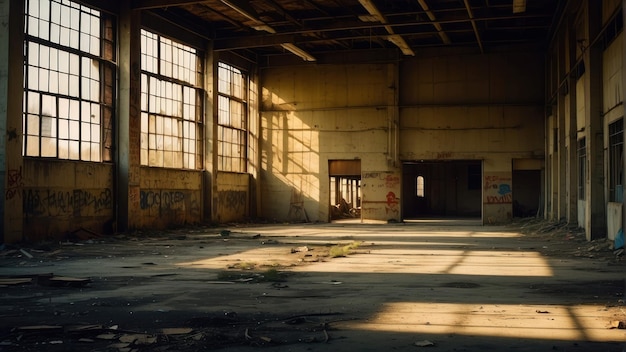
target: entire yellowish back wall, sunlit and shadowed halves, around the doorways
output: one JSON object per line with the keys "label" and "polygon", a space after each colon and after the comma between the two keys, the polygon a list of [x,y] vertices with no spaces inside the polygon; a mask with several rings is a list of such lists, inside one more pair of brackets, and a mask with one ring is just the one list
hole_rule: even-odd
{"label": "entire yellowish back wall, sunlit and shadowed halves, around the doorways", "polygon": [[[404,58],[398,67],[264,69],[264,216],[284,219],[292,192],[301,190],[311,218],[326,221],[328,207],[320,200],[329,196],[327,160],[358,158],[364,175],[391,172],[400,179],[399,162],[393,157],[396,150],[398,160],[484,160],[485,175],[495,174],[510,190],[512,159],[544,157],[543,65],[538,48],[524,47],[489,54],[424,50],[415,58]],[[396,107],[397,127],[392,120]],[[397,137],[394,128],[399,131]],[[449,182],[445,177],[435,176],[444,180],[442,189]],[[367,207],[388,199],[377,193],[368,196],[365,177],[363,183],[363,218],[370,214],[385,220],[384,211]],[[402,204],[400,193],[394,195]],[[273,202],[267,204],[266,199]],[[510,192],[504,201],[493,199],[484,197],[482,210],[494,221],[508,220],[512,216]],[[440,208],[432,205],[432,209]]]}

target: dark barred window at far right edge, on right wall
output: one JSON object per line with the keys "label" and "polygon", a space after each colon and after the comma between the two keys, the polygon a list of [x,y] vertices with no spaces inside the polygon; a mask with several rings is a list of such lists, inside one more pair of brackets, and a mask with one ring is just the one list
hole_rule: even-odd
{"label": "dark barred window at far right edge, on right wall", "polygon": [[609,125],[609,201],[622,202],[624,177],[624,119]]}

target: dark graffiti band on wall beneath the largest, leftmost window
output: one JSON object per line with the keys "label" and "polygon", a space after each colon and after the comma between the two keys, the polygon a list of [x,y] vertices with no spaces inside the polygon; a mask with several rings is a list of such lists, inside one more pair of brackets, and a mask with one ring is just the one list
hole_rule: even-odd
{"label": "dark graffiti band on wall beneath the largest, leftmost window", "polygon": [[99,190],[25,189],[22,191],[25,217],[93,216],[113,209],[108,188]]}

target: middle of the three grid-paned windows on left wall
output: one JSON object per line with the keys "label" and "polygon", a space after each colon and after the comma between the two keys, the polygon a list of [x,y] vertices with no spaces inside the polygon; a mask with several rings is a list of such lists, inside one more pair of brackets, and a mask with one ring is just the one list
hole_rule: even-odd
{"label": "middle of the three grid-paned windows on left wall", "polygon": [[200,53],[141,30],[141,70],[141,164],[202,168]]}

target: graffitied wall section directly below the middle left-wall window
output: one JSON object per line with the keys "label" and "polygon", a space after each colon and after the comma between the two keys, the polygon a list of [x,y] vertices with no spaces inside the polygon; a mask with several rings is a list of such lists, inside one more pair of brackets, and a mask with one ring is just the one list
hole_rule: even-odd
{"label": "graffitied wall section directly below the middle left-wall window", "polygon": [[199,171],[141,168],[140,227],[167,228],[202,221]]}

